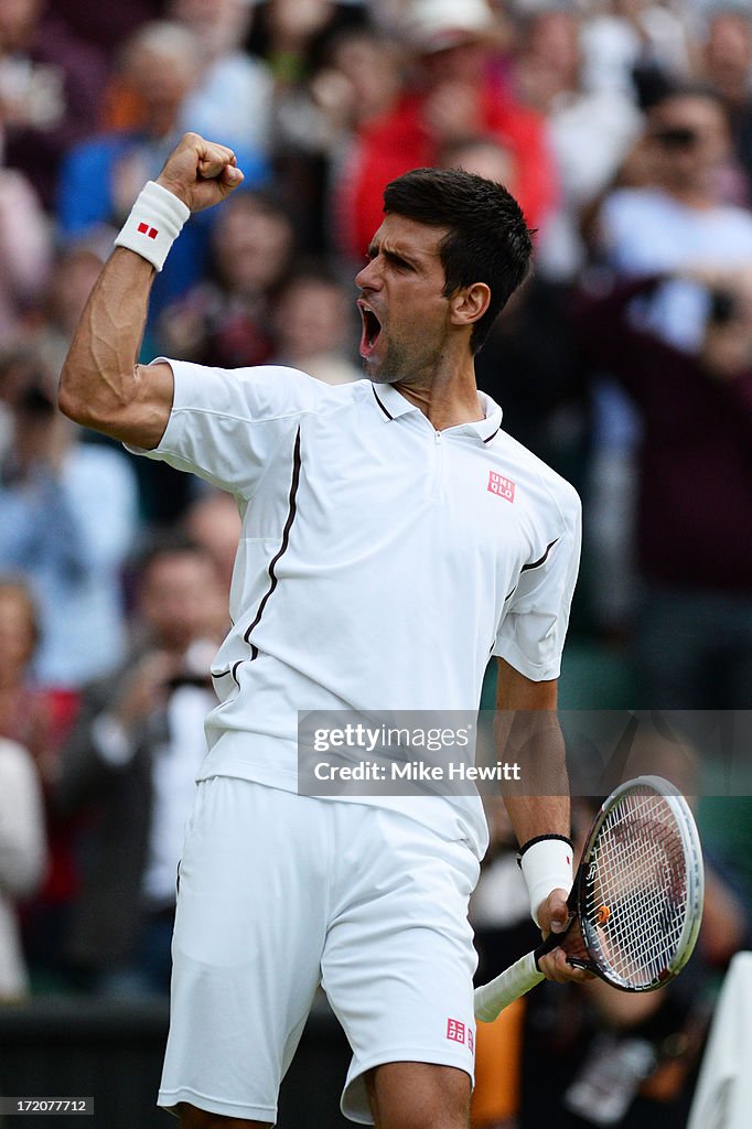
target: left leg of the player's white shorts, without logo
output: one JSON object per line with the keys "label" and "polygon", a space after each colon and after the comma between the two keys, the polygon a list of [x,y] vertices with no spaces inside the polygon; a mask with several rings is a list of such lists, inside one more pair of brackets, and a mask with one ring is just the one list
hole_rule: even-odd
{"label": "left leg of the player's white shorts, without logo", "polygon": [[326,933],[327,842],[314,803],[226,777],[199,785],[181,860],[160,1105],[274,1122]]}

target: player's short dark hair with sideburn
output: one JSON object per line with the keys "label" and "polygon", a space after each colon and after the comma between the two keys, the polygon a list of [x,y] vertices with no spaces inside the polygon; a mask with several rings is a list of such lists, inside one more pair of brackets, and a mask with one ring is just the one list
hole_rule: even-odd
{"label": "player's short dark hair with sideburn", "polygon": [[490,288],[489,307],[473,325],[470,339],[472,351],[478,352],[530,269],[533,233],[522,208],[501,184],[475,173],[414,168],[386,185],[384,211],[449,229],[439,244],[447,297],[475,282]]}

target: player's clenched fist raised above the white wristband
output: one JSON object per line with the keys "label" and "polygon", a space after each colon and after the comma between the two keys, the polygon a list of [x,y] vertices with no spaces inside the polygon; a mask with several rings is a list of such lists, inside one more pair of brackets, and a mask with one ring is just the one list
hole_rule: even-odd
{"label": "player's clenched fist raised above the white wristband", "polygon": [[185,133],[170,152],[157,184],[194,211],[220,203],[243,183],[235,154],[224,145]]}

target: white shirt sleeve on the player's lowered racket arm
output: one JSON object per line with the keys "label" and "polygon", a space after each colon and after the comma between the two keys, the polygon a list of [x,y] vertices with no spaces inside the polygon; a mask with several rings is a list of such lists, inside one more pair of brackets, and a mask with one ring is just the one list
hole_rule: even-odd
{"label": "white shirt sleeve on the player's lowered racket arm", "polygon": [[559,528],[541,555],[523,566],[493,648],[534,682],[559,676],[579,568],[582,506],[571,487],[562,495]]}

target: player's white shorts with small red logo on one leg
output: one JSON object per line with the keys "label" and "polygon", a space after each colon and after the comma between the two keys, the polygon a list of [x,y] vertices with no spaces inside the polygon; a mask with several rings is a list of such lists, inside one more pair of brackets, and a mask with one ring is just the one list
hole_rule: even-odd
{"label": "player's white shorts with small red logo on one leg", "polygon": [[321,983],[352,1048],[342,1112],[373,1124],[383,1062],[473,1076],[478,859],[379,807],[199,785],[180,867],[159,1105],[273,1123]]}

